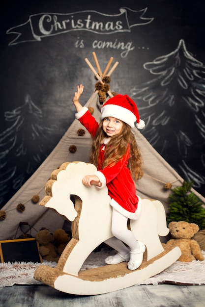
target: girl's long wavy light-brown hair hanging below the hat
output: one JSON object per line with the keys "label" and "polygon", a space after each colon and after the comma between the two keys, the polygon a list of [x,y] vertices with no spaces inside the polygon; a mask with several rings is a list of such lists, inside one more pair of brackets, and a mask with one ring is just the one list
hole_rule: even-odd
{"label": "girl's long wavy light-brown hair hanging below the hat", "polygon": [[[130,158],[128,160],[128,167],[130,169],[131,176],[134,180],[140,179],[143,176],[142,171],[142,156],[134,134],[128,124],[123,123],[122,130],[117,135],[111,136],[109,146],[106,146],[104,153],[104,163],[101,166],[102,169],[107,166],[112,166],[120,160],[126,153],[127,146],[130,146]],[[104,138],[107,136],[102,128],[103,120],[99,124],[99,128],[93,138],[90,163],[99,168],[99,151],[100,145],[103,143]]]}

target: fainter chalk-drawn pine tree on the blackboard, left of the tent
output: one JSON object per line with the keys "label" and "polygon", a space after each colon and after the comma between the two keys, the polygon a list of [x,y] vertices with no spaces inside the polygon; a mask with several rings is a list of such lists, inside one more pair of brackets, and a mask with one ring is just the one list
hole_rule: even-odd
{"label": "fainter chalk-drawn pine tree on the blackboard, left of the tent", "polygon": [[51,148],[48,134],[52,132],[52,128],[41,126],[42,112],[29,95],[22,106],[5,112],[4,116],[13,124],[0,133],[1,207],[46,158]]}

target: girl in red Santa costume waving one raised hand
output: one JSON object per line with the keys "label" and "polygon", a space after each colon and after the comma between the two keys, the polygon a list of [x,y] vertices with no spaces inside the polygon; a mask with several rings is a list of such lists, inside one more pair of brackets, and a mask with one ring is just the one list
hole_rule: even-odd
{"label": "girl in red Santa costume waving one raised hand", "polygon": [[83,178],[83,184],[91,186],[92,181],[97,181],[99,188],[107,185],[111,197],[114,236],[105,243],[117,254],[107,257],[105,262],[127,261],[128,269],[136,270],[143,261],[146,247],[127,228],[128,218],[136,220],[142,206],[133,181],[143,176],[142,157],[131,128],[135,125],[144,128],[145,123],[140,120],[137,106],[129,96],[116,95],[103,104],[98,124],[88,108],[79,102],[83,90],[83,85],[77,86],[73,97],[77,111],[75,117],[93,138],[90,163],[97,167],[94,174]]}

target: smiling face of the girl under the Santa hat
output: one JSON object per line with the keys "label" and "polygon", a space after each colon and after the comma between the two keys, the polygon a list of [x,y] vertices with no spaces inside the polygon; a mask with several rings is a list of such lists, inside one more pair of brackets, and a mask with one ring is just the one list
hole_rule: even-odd
{"label": "smiling face of the girl under the Santa hat", "polygon": [[103,120],[102,128],[107,136],[114,136],[121,132],[123,122],[115,117],[106,117]]}

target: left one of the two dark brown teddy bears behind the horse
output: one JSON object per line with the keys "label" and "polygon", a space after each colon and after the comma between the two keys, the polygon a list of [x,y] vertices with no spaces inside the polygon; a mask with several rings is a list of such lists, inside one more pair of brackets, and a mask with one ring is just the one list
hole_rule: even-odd
{"label": "left one of the two dark brown teddy bears behind the horse", "polygon": [[54,233],[47,230],[39,230],[35,235],[36,241],[39,243],[39,253],[42,258],[47,261],[58,262],[59,255],[57,254],[57,249],[54,242]]}

